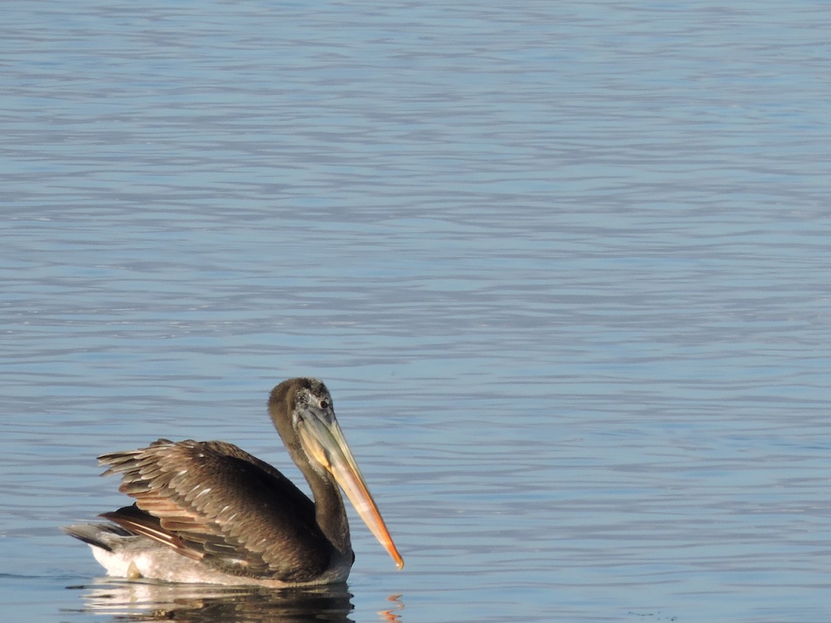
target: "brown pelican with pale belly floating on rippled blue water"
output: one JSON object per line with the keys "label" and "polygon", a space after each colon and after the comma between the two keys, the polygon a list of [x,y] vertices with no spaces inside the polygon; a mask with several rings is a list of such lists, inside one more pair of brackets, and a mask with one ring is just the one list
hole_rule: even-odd
{"label": "brown pelican with pale belly floating on rippled blue water", "polygon": [[110,576],[224,585],[314,586],[347,579],[355,554],[343,488],[401,569],[321,380],[284,380],[268,398],[283,444],[314,502],[271,465],[223,441],[173,442],[104,454],[132,506],[111,523],[64,527]]}

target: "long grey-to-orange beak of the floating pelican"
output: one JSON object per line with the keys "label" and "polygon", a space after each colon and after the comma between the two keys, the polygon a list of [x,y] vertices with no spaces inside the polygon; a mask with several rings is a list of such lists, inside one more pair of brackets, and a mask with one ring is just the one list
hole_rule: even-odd
{"label": "long grey-to-orange beak of the floating pelican", "polygon": [[308,410],[297,430],[303,449],[324,468],[327,468],[329,473],[332,473],[347,494],[349,501],[352,502],[352,506],[366,523],[366,527],[389,552],[396,562],[396,567],[401,570],[404,567],[404,559],[398,553],[396,544],[392,542],[390,532],[386,529],[375,500],[366,488],[361,470],[358,469],[347,439],[344,438],[343,431],[337,424],[337,419],[332,418],[331,422],[327,422]]}

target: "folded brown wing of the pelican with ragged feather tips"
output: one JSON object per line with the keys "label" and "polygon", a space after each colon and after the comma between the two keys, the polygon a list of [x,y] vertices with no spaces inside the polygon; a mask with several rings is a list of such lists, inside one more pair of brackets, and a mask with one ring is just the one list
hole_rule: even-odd
{"label": "folded brown wing of the pelican with ragged feather tips", "polygon": [[[332,544],[314,504],[277,469],[233,444],[159,439],[105,454],[133,507],[104,517],[180,554],[234,575],[308,581]],[[130,510],[135,509],[135,510]]]}

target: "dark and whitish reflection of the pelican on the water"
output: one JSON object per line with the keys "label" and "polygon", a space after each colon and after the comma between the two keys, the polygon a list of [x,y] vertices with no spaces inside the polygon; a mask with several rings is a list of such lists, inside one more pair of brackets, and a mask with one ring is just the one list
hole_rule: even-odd
{"label": "dark and whitish reflection of the pelican on the water", "polygon": [[[354,607],[345,584],[276,590],[102,578],[69,588],[84,591],[81,611],[109,615],[114,621],[352,621]],[[400,605],[397,596],[391,601]],[[400,621],[393,612],[396,606],[379,613],[379,620]]]}

